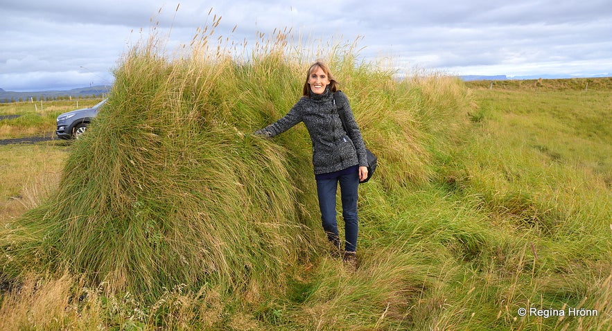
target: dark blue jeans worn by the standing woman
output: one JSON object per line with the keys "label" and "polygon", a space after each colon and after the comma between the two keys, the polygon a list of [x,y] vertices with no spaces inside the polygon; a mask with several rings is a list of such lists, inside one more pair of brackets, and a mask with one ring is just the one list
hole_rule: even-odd
{"label": "dark blue jeans worn by the standing woman", "polygon": [[353,172],[340,175],[332,179],[317,180],[317,195],[321,220],[327,239],[336,244],[338,238],[338,222],[335,213],[335,195],[340,183],[340,197],[342,198],[342,218],[344,219],[345,251],[355,251],[357,247],[357,189],[359,187],[359,173]]}

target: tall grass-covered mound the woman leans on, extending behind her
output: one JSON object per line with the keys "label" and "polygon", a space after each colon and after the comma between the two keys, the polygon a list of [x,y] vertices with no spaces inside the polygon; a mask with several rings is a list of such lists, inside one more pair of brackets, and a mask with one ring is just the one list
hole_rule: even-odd
{"label": "tall grass-covered mound the woman leans on, extending behind her", "polygon": [[[138,296],[181,283],[277,287],[288,266],[325,251],[304,127],[276,141],[251,134],[297,101],[308,63],[290,60],[281,34],[248,61],[205,43],[171,58],[156,42],[125,55],[57,194],[10,232],[5,275],[65,268]],[[446,125],[423,118],[464,111],[461,92],[397,84],[350,52],[328,57],[381,158],[377,181],[426,181],[419,139]],[[449,94],[439,109],[432,93]]]}

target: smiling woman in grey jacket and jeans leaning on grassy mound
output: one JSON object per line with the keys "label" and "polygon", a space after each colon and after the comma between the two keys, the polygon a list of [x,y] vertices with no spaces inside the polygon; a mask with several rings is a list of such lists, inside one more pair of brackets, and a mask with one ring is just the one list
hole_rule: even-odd
{"label": "smiling woman in grey jacket and jeans leaning on grassy mound", "polygon": [[[298,123],[306,125],[313,147],[313,168],[322,225],[331,243],[332,256],[343,254],[344,262],[351,269],[356,269],[358,187],[360,181],[365,181],[368,172],[365,143],[349,100],[338,91],[338,82],[327,64],[317,61],[308,68],[302,93],[302,98],[288,114],[255,134],[270,138]],[[344,111],[340,113],[339,109]],[[340,239],[336,221],[338,185],[342,197],[344,240]]]}

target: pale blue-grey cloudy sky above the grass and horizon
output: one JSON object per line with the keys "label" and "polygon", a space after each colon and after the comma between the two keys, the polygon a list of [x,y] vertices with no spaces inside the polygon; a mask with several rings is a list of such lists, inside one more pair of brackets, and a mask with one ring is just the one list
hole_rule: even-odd
{"label": "pale blue-grey cloudy sky above the grass and horizon", "polygon": [[148,35],[159,21],[169,44],[189,44],[213,15],[222,17],[216,35],[236,42],[285,27],[313,39],[361,37],[363,60],[388,57],[406,72],[612,75],[609,0],[2,0],[0,88],[112,84],[141,29]]}

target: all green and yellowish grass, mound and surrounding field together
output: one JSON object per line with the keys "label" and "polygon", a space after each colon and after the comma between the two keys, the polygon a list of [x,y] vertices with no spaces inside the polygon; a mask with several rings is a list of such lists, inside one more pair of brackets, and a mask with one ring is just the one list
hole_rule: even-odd
{"label": "all green and yellowish grass, mound and surrounding field together", "polygon": [[211,49],[141,45],[82,139],[0,147],[1,330],[612,328],[610,90],[396,82],[333,48],[380,162],[351,272],[306,129],[251,134],[308,63],[281,34]]}

